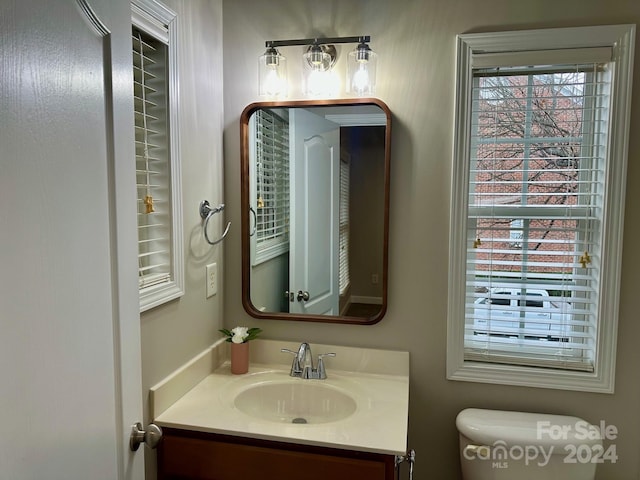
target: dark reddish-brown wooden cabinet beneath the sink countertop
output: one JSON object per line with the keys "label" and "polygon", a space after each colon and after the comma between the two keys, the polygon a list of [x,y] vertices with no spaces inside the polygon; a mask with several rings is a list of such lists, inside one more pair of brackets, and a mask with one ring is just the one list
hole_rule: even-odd
{"label": "dark reddish-brown wooden cabinet beneath the sink countertop", "polygon": [[397,480],[394,455],[173,428],[163,432],[159,480]]}

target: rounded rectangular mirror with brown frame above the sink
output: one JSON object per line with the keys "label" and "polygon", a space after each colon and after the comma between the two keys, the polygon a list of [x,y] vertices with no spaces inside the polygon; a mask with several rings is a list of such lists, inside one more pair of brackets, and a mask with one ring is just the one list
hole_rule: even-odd
{"label": "rounded rectangular mirror with brown frame above the sink", "polygon": [[390,117],[378,100],[245,109],[242,297],[248,313],[344,323],[382,318]]}

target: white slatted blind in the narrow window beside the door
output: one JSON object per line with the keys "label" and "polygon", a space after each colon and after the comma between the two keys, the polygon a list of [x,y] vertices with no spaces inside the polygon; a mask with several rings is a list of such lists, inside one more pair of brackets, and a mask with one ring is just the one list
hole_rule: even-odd
{"label": "white slatted blind in the narrow window beside the door", "polygon": [[133,27],[138,278],[141,290],[171,278],[167,45]]}

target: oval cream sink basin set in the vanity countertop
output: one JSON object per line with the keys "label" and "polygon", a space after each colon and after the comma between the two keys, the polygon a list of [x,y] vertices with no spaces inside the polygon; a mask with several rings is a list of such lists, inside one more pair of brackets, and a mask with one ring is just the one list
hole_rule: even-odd
{"label": "oval cream sink basin set in the vanity countertop", "polygon": [[267,382],[240,392],[234,405],[241,412],[278,423],[328,423],[356,411],[356,402],[346,393],[308,380]]}

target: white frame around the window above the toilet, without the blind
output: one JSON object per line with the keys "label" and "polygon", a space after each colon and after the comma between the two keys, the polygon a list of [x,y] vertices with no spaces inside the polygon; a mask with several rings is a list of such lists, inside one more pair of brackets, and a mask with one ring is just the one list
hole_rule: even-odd
{"label": "white frame around the window above the toilet, without the blind", "polygon": [[[634,25],[464,34],[457,37],[456,124],[452,169],[447,378],[450,380],[523,385],[613,393],[617,317],[620,290],[622,231],[629,140]],[[603,209],[600,304],[594,372],[464,359],[465,284],[469,162],[471,147],[472,59],[474,54],[504,54],[514,58],[543,55],[555,63],[562,49],[612,49],[610,129],[606,156],[607,184]],[[615,161],[614,161],[615,159]],[[606,321],[604,321],[606,319]]]}

